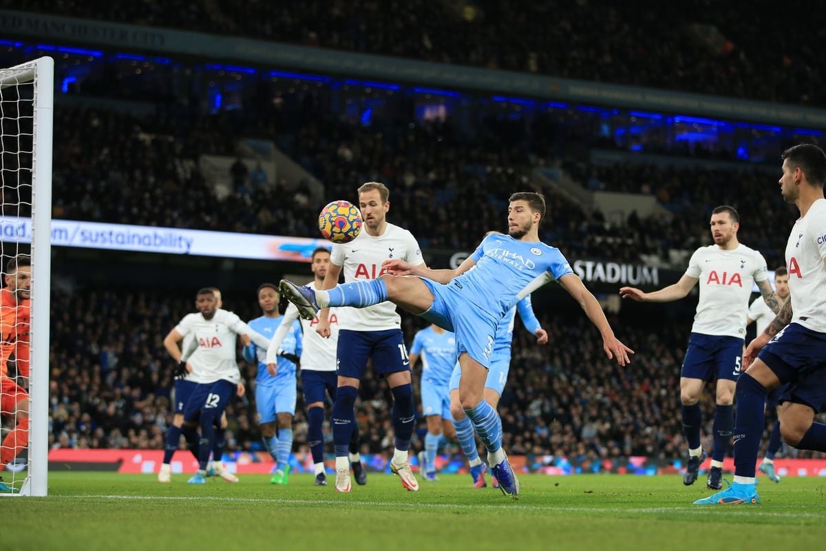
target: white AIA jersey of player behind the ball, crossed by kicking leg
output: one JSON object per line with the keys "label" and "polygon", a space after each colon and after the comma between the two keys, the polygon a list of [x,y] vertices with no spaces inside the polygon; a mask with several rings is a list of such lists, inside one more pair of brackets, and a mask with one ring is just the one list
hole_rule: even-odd
{"label": "white AIA jersey of player behind the ball, crossed by kicking leg", "polygon": [[[405,260],[414,266],[425,263],[413,234],[392,224],[387,224],[384,233],[377,237],[363,230],[349,243],[333,245],[330,254],[330,262],[344,267],[346,283],[378,278],[383,273],[382,262],[387,259]],[[396,313],[396,305],[389,301],[367,308],[344,306],[339,310],[341,329],[381,331],[401,327],[401,316]]]}

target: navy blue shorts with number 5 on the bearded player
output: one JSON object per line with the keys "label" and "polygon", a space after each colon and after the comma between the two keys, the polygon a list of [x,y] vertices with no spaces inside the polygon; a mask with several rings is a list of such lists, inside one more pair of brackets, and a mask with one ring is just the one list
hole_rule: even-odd
{"label": "navy blue shorts with number 5 on the bearded player", "polygon": [[736,381],[743,368],[743,339],[691,333],[680,377]]}

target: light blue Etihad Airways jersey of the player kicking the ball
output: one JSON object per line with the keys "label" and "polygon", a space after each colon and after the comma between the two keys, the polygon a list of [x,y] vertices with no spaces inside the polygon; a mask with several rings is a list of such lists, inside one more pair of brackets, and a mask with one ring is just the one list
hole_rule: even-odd
{"label": "light blue Etihad Airways jersey of the player kicking the ball", "polygon": [[491,234],[470,255],[477,264],[451,280],[466,300],[491,312],[497,321],[523,297],[573,273],[559,249],[540,242]]}

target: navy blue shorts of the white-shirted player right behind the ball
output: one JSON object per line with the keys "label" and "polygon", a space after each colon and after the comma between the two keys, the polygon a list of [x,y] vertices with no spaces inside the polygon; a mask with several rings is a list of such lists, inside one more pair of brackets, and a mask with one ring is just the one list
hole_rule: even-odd
{"label": "navy blue shorts of the white-shirted player right behind the ball", "polygon": [[407,358],[405,337],[401,329],[383,331],[339,330],[339,345],[336,352],[338,368],[342,377],[364,377],[367,360],[373,359],[373,368],[379,375],[389,375],[398,371],[410,371],[411,360]]}

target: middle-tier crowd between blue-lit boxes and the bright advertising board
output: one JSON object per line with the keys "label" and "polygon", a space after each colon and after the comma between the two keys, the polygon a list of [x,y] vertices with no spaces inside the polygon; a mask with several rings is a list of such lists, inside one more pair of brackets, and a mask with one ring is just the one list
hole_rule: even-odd
{"label": "middle-tier crowd between blue-lit boxes and the bright advertising board", "polygon": [[[596,181],[607,191],[650,193],[670,212],[618,220],[581,207],[534,177],[534,168],[548,162],[539,155],[547,145],[536,146],[525,125],[506,126],[491,117],[478,128],[468,139],[449,122],[392,120],[365,127],[315,108],[299,117],[275,112],[266,122],[232,112],[135,116],[64,108],[55,114],[54,216],[312,236],[325,202],[354,201],[360,183],[381,181],[392,190],[390,219],[411,230],[420,245],[467,250],[487,230],[504,229],[510,193],[537,189],[548,200],[542,237],[572,259],[667,260],[671,250],[707,244],[711,209],[731,204],[743,216],[741,240],[771,265],[783,262],[786,233],[772,228],[788,228],[795,218],[770,173],[701,164],[564,162],[562,168],[583,185]],[[226,175],[234,192],[219,197],[198,159],[233,154],[240,136],[279,136],[287,154],[325,184],[323,196],[313,201],[304,188],[264,184],[255,176],[259,169],[236,169],[236,161]],[[249,185],[242,185],[244,178]],[[763,223],[767,216],[771,225]]]}

